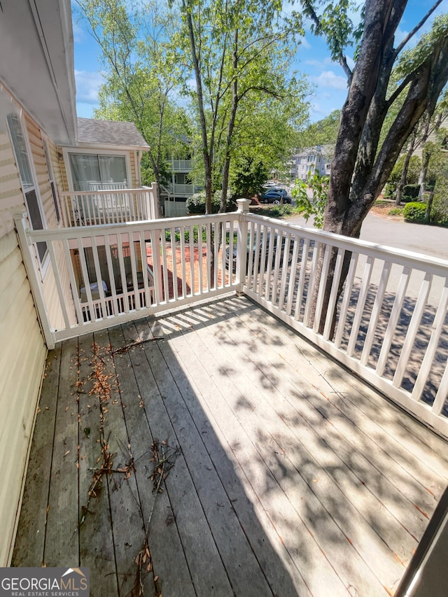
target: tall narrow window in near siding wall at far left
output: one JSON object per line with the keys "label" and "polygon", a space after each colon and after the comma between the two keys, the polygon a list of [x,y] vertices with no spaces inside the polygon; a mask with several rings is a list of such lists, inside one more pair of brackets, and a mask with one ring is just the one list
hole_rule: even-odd
{"label": "tall narrow window in near siding wall at far left", "polygon": [[[36,183],[34,182],[33,171],[29,163],[27,143],[22,132],[22,125],[17,114],[8,114],[8,127],[13,143],[15,153],[15,161],[19,170],[20,182],[22,183],[22,191],[25,196],[25,203],[27,205],[29,220],[33,230],[43,230],[43,213],[41,211],[41,202],[38,198],[38,191]],[[45,255],[47,253],[47,244],[45,242],[36,243],[38,258],[43,264]]]}

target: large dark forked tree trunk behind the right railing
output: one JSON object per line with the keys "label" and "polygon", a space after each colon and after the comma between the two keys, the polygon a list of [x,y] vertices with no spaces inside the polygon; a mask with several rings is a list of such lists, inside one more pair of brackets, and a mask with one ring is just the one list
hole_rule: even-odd
{"label": "large dark forked tree trunk behind the right railing", "polygon": [[[375,145],[388,110],[386,90],[391,71],[393,34],[405,2],[399,7],[392,1],[367,3],[365,30],[360,55],[353,71],[349,94],[342,108],[341,123],[332,161],[330,188],[325,209],[324,230],[359,237],[360,227],[374,200],[391,174],[409,132],[423,115],[433,111],[437,98],[448,80],[448,39],[437,47],[409,79],[408,92],[381,149]],[[397,10],[401,11],[400,14]],[[382,71],[381,71],[382,67]],[[379,138],[379,137],[378,137]],[[332,263],[335,262],[335,252]],[[314,285],[313,312],[321,283],[323,250],[319,254]],[[323,332],[327,315],[334,266],[325,280],[324,307],[318,325]],[[339,293],[345,277],[339,283]],[[334,314],[333,314],[334,316]]]}

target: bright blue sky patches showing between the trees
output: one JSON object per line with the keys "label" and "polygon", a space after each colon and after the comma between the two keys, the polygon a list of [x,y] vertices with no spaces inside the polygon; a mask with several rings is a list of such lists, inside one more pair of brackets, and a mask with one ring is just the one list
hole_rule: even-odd
{"label": "bright blue sky patches showing between the trees", "polygon": [[[417,22],[426,14],[433,1],[409,0],[405,15],[396,34],[400,42]],[[447,1],[444,0],[435,15],[446,12]],[[358,18],[357,16],[354,17]],[[428,29],[428,26],[426,26]],[[103,78],[98,59],[98,46],[85,29],[82,22],[73,20],[73,37],[75,50],[76,107],[78,116],[92,118],[97,107],[97,93]],[[350,49],[349,49],[350,52]],[[349,64],[353,64],[348,55]],[[297,47],[297,64],[295,68],[306,73],[310,83],[314,85],[314,93],[309,97],[311,103],[311,121],[324,118],[331,111],[342,108],[346,97],[346,77],[342,67],[332,62],[325,42],[316,38],[305,27],[305,36]]]}

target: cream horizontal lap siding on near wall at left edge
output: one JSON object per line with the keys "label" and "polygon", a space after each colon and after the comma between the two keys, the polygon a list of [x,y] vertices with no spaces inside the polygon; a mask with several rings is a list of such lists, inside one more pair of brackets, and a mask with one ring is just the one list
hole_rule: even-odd
{"label": "cream horizontal lap siding on near wall at left edge", "polygon": [[[10,101],[8,99],[8,105]],[[0,121],[0,566],[8,566],[46,348],[34,308],[13,216],[25,211],[13,148]]]}

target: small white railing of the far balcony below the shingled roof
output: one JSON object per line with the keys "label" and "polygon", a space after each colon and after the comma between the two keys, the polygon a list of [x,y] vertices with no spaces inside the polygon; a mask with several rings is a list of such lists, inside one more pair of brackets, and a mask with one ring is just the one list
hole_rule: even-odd
{"label": "small white railing of the far balcony below the shingled roof", "polygon": [[139,222],[158,218],[155,185],[140,189],[59,193],[65,227]]}

